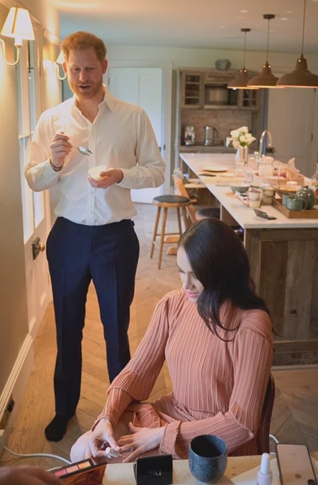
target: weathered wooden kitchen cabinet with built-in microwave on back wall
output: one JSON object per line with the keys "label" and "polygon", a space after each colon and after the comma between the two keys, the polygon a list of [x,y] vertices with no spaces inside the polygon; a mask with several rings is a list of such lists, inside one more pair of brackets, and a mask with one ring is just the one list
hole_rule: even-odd
{"label": "weathered wooden kitchen cabinet with built-in microwave on back wall", "polygon": [[[228,89],[228,83],[236,74],[236,70],[212,68],[185,68],[176,72],[175,167],[179,166],[181,151],[234,153],[233,147],[224,145],[230,131],[239,126],[248,126],[259,139],[263,130],[264,90]],[[185,145],[187,125],[194,126],[195,144],[192,146]],[[211,146],[204,145],[206,125],[217,130],[215,144]],[[257,150],[256,142],[250,146],[250,151],[254,150]]]}

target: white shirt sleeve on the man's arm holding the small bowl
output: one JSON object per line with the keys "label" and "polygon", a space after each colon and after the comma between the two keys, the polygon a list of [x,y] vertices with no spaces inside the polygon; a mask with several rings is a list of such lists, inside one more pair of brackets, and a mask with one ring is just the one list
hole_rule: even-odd
{"label": "white shirt sleeve on the man's arm holding the small bowl", "polygon": [[124,176],[118,186],[124,189],[160,187],[165,182],[166,164],[158,148],[150,120],[141,108],[137,112],[135,127],[137,164],[130,169],[120,168]]}

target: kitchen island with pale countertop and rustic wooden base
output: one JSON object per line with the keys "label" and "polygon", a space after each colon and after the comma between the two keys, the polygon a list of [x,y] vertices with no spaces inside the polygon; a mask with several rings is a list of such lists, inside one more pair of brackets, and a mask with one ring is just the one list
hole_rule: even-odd
{"label": "kitchen island with pale countertop and rustic wooden base", "polygon": [[244,229],[251,276],[277,334],[273,364],[318,363],[318,219],[288,219],[268,205],[261,210],[276,219],[262,219],[233,196],[231,182],[218,186],[213,183],[216,178],[200,175],[209,165],[233,169],[233,154],[180,153],[180,157],[219,202],[221,220]]}

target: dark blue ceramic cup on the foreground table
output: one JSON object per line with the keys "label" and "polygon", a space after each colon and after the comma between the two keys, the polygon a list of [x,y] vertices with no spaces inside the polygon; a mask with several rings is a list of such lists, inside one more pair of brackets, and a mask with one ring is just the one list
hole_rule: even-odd
{"label": "dark blue ceramic cup on the foreground table", "polygon": [[227,446],[213,434],[196,436],[190,443],[189,467],[195,478],[204,483],[216,483],[225,472]]}

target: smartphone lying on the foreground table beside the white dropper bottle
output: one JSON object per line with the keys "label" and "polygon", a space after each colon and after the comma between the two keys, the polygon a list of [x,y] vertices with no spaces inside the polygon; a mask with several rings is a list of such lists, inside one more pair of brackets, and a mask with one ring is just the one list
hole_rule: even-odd
{"label": "smartphone lying on the foreground table beside the white dropper bottle", "polygon": [[281,485],[317,485],[306,445],[276,443],[275,451]]}

